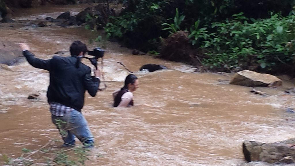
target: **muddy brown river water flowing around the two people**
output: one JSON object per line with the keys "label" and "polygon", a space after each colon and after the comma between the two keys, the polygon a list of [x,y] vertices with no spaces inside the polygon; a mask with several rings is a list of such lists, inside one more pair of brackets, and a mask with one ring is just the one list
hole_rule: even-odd
{"label": "muddy brown river water flowing around the two people", "polygon": [[[66,11],[77,14],[85,7],[27,9],[13,19],[55,18]],[[74,40],[87,43],[89,49],[102,45],[88,42],[102,32],[83,27],[25,30],[17,24],[0,24],[1,40],[25,42],[44,59],[57,51],[68,51]],[[271,143],[295,137],[294,123],[286,121],[294,115],[283,109],[294,100],[283,92],[283,88],[292,87],[288,81],[280,89],[259,88],[271,94],[262,97],[250,93],[253,88],[227,84],[232,74],[194,73],[194,68],[186,64],[132,55],[117,43],[104,44],[108,88],[96,97],[87,94],[82,110],[95,137],[92,162],[87,165],[235,166],[245,163],[244,140]],[[112,92],[123,86],[129,74],[117,62],[139,77],[135,107],[112,108]],[[169,69],[138,71],[147,63]],[[49,140],[61,139],[51,123],[47,104],[47,71],[23,61],[16,66],[2,65],[0,78],[0,161],[4,155],[18,157],[22,148],[39,149]],[[28,100],[30,94],[39,94],[40,99]]]}

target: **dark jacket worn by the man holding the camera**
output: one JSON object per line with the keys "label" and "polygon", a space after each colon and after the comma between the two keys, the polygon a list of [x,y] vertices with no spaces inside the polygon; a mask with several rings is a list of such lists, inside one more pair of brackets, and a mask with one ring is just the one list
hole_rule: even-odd
{"label": "dark jacket worn by the man holding the camera", "polygon": [[48,103],[58,102],[81,111],[84,105],[85,91],[94,97],[99,87],[99,79],[90,75],[89,66],[79,62],[77,56],[53,56],[43,60],[36,58],[30,51],[24,51],[27,61],[38,69],[49,71],[50,84],[47,90]]}

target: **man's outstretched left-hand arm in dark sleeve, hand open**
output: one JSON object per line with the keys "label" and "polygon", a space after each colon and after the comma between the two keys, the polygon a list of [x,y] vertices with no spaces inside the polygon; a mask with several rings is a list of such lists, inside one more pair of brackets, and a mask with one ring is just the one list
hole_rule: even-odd
{"label": "man's outstretched left-hand arm in dark sleeve, hand open", "polygon": [[22,49],[24,57],[30,65],[38,69],[44,69],[50,71],[50,61],[51,59],[43,60],[36,58],[33,53],[30,52],[30,47],[25,43],[19,43],[19,47]]}

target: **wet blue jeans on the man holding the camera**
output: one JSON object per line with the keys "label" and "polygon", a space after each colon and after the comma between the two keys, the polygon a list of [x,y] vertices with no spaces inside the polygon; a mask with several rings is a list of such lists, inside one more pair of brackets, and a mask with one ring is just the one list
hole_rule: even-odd
{"label": "wet blue jeans on the man holding the camera", "polygon": [[64,116],[51,114],[52,122],[63,137],[63,147],[75,146],[75,136],[83,143],[84,147],[93,147],[94,138],[84,116],[77,110],[72,110]]}

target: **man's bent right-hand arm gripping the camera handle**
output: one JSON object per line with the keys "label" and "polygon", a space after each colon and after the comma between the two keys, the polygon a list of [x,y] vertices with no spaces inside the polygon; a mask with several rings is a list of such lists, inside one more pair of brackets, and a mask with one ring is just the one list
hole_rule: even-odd
{"label": "man's bent right-hand arm gripping the camera handle", "polygon": [[94,97],[98,90],[100,80],[99,80],[99,77],[92,77],[90,75],[90,72],[91,72],[91,69],[89,68],[89,71],[87,71],[87,74],[85,75],[85,78],[84,78],[84,85],[89,95]]}

